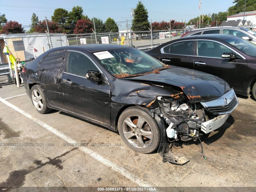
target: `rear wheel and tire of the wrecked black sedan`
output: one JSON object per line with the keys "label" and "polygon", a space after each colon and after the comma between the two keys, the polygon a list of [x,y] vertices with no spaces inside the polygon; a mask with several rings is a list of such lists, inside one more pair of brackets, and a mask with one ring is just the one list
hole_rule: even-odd
{"label": "rear wheel and tire of the wrecked black sedan", "polygon": [[30,90],[30,98],[31,98],[32,104],[36,107],[36,110],[39,113],[45,114],[52,110],[48,108],[46,104],[46,99],[44,97],[44,93],[39,85],[32,86]]}

